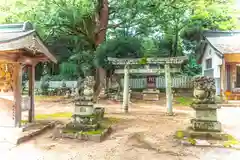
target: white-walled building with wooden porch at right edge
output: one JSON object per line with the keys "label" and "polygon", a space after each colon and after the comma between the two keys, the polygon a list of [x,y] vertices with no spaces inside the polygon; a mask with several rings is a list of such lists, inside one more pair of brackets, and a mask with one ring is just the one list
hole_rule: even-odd
{"label": "white-walled building with wooden porch at right edge", "polygon": [[202,75],[213,77],[216,95],[240,98],[240,31],[205,31],[201,41]]}

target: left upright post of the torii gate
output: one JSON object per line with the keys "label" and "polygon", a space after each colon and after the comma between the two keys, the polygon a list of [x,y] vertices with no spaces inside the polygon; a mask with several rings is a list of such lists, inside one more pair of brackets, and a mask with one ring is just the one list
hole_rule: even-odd
{"label": "left upright post of the torii gate", "polygon": [[123,85],[123,108],[125,113],[128,113],[128,105],[129,105],[129,66],[125,65]]}

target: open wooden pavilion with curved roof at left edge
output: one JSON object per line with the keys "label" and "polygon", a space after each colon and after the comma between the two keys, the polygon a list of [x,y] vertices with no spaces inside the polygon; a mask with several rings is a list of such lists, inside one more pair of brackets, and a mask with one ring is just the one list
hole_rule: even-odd
{"label": "open wooden pavilion with curved roof at left edge", "polygon": [[57,62],[43,44],[33,25],[0,25],[0,127],[20,127],[22,119],[22,69],[29,73],[29,122],[34,120],[35,66]]}

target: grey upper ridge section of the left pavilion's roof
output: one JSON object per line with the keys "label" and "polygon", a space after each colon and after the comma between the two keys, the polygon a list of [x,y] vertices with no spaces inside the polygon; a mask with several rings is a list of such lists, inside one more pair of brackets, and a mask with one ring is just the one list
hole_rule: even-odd
{"label": "grey upper ridge section of the left pavilion's roof", "polygon": [[0,43],[10,42],[34,32],[35,30],[29,22],[21,24],[3,24],[0,25]]}

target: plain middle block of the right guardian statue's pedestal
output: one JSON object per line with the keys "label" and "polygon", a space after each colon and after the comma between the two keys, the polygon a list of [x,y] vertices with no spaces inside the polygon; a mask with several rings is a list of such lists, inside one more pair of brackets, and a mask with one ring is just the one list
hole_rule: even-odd
{"label": "plain middle block of the right guardian statue's pedestal", "polygon": [[196,119],[217,121],[217,110],[196,110]]}

